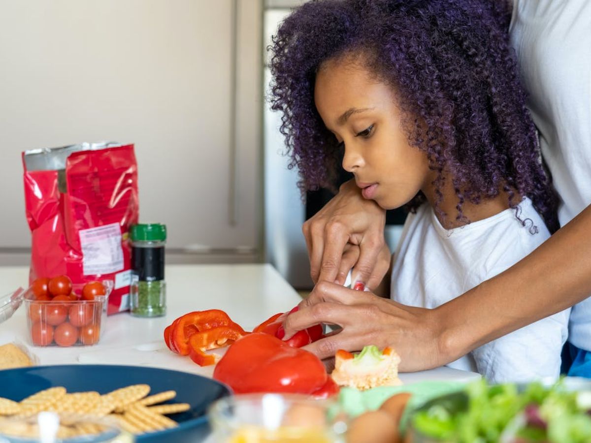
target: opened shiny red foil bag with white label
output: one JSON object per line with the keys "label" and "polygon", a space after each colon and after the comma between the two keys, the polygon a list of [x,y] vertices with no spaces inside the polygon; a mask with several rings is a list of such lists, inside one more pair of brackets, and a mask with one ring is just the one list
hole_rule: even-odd
{"label": "opened shiny red foil bag with white label", "polygon": [[112,280],[108,313],[129,305],[129,227],[138,222],[134,145],[84,143],[22,153],[30,282]]}

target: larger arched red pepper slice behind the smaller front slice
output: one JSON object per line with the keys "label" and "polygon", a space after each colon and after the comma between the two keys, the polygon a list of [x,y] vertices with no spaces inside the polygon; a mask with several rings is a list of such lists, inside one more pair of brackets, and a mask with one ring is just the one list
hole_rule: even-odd
{"label": "larger arched red pepper slice behind the smaller front slice", "polygon": [[177,318],[170,330],[170,344],[181,356],[188,356],[190,352],[189,339],[202,331],[211,330],[220,326],[228,326],[241,334],[246,332],[240,325],[230,320],[226,312],[212,309],[207,311],[194,311]]}

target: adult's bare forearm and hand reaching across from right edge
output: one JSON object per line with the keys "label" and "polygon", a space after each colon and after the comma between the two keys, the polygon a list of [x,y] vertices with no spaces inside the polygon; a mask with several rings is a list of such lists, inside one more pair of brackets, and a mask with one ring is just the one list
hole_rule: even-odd
{"label": "adult's bare forearm and hand reaching across from right edge", "polygon": [[393,346],[401,370],[456,360],[474,348],[555,314],[591,294],[591,206],[505,272],[434,309],[320,282],[284,321],[285,338],[316,323],[342,331],[307,349],[320,358],[339,348]]}

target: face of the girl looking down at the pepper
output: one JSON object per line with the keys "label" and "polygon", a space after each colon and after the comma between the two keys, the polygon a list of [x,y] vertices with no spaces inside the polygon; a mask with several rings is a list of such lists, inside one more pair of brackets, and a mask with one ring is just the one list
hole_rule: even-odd
{"label": "face of the girl looking down at the pepper", "polygon": [[408,203],[430,187],[427,155],[408,143],[392,87],[351,57],[330,60],[316,76],[314,101],[324,125],[344,145],[343,168],[364,198],[384,209]]}

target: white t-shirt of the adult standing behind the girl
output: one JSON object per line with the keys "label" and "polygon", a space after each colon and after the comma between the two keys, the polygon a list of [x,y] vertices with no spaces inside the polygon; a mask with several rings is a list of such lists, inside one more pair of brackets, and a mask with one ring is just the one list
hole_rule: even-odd
{"label": "white t-shirt of the adult standing behind the girl", "polygon": [[[564,226],[591,204],[591,1],[514,0],[511,43]],[[573,307],[569,329],[591,351],[591,298]]]}

